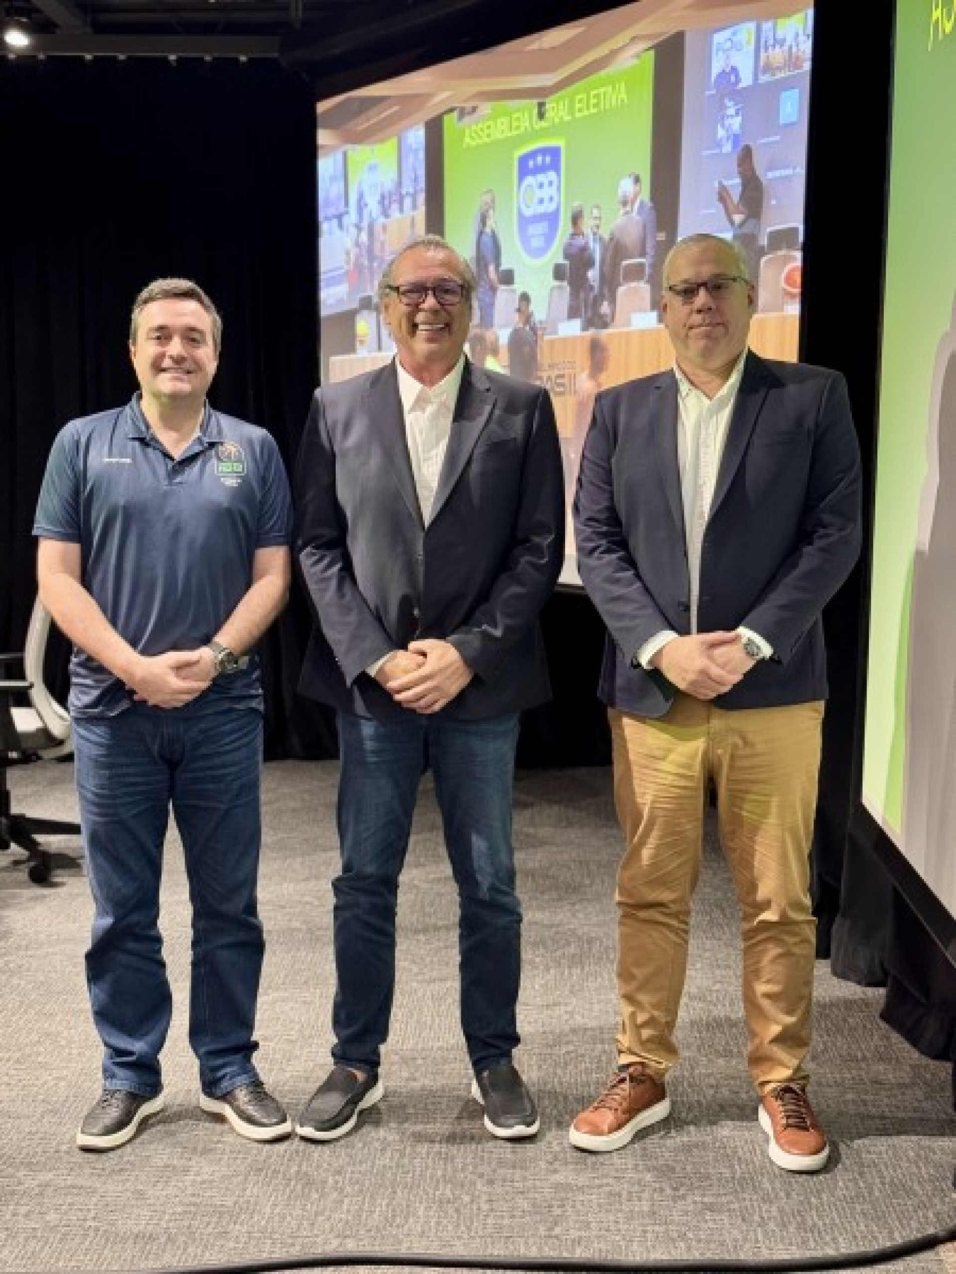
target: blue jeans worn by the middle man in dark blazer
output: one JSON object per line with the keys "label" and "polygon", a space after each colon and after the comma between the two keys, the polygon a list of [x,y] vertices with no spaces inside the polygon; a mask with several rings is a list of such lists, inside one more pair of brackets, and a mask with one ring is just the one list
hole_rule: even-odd
{"label": "blue jeans worn by the middle man in dark blazer", "polygon": [[519,719],[339,715],[333,1006],[335,1061],[377,1070],[395,989],[398,884],[416,794],[431,767],[459,896],[461,1029],[477,1071],[518,1047],[521,907],[515,894],[511,789]]}

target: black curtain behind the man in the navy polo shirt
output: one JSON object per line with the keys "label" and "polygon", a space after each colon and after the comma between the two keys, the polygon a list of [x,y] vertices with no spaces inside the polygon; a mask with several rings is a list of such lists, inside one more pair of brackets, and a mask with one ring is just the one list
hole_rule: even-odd
{"label": "black curtain behind the man in the navy polo shirt", "polygon": [[[6,61],[0,120],[0,643],[17,650],[50,445],[133,394],[129,315],[150,279],[213,297],[210,399],[268,428],[291,469],[317,368],[315,94],[265,62]],[[334,750],[331,717],[294,694],[307,627],[296,595],[264,642],[272,757]]]}

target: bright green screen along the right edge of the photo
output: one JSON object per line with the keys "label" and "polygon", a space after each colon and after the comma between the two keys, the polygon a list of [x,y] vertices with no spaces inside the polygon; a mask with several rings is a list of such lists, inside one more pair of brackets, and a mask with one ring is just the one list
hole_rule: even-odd
{"label": "bright green screen along the right edge of the photo", "polygon": [[956,912],[953,107],[956,0],[897,0],[862,795]]}

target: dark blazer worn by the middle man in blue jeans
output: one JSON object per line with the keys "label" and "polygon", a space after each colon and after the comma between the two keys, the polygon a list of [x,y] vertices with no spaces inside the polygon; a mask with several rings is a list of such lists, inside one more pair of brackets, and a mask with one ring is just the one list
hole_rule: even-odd
{"label": "dark blazer worn by the middle man in blue jeans", "polygon": [[302,694],[359,716],[404,716],[363,670],[433,637],[475,674],[444,715],[500,716],[549,697],[538,615],[563,562],[565,508],[547,390],[465,361],[426,526],[395,362],[321,387],[294,505],[294,557],[315,619]]}

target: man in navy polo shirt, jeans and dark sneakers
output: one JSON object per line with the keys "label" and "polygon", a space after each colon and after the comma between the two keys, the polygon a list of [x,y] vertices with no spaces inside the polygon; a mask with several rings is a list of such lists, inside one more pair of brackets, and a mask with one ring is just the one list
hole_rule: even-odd
{"label": "man in navy polo shirt, jeans and dark sneakers", "polygon": [[252,1056],[263,691],[251,652],[286,605],[291,502],[273,438],[214,412],[222,320],[189,279],[133,306],[140,392],[71,420],[33,534],[40,596],[74,643],[70,713],[94,901],[87,952],[103,1088],[76,1134],[112,1150],[163,1107],[172,999],[159,934],[170,808],[192,902],[189,1038],[203,1110],[291,1133]]}

